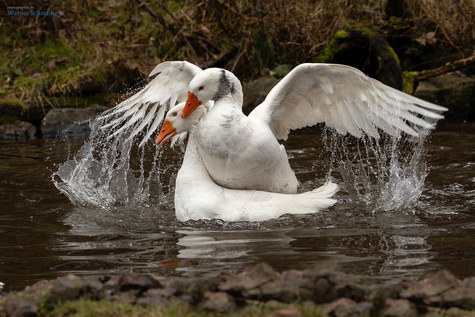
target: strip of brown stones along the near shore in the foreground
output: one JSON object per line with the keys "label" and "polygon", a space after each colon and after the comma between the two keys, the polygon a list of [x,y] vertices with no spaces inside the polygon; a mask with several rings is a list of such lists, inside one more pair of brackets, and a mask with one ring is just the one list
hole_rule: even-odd
{"label": "strip of brown stones along the near shore in the foreground", "polygon": [[[78,299],[76,304],[67,303]],[[52,316],[59,314],[64,305],[85,302],[114,302],[150,309],[184,305],[197,314],[246,316],[301,316],[307,315],[304,310],[308,312],[309,307],[313,307],[311,316],[467,316],[473,312],[465,310],[475,309],[475,277],[460,280],[449,271],[440,270],[425,279],[385,285],[338,268],[279,273],[265,263],[242,272],[226,271],[215,278],[67,275],[40,280],[22,291],[3,292],[0,316]],[[284,303],[292,303],[293,308],[285,308]],[[74,312],[77,311],[76,307]]]}

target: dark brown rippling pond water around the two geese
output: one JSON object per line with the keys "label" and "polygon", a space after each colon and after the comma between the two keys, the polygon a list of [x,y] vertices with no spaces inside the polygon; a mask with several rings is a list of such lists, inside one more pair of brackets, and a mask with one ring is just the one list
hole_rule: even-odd
{"label": "dark brown rippling pond water around the two geese", "polygon": [[[322,154],[323,141],[320,134],[295,133],[285,143],[302,191],[325,179],[328,166],[318,162],[332,154]],[[397,185],[402,190],[380,203],[384,208],[357,202],[340,166],[332,177],[342,191],[329,210],[236,224],[179,223],[171,207],[172,192],[162,195],[168,203],[121,205],[110,211],[71,204],[51,175],[55,164],[65,162],[81,145],[50,140],[0,143],[4,289],[68,273],[213,275],[259,261],[276,269],[337,262],[351,272],[389,282],[442,268],[459,277],[475,275],[475,134],[431,134],[422,151],[427,152],[423,161],[428,175],[415,205],[399,206],[410,195],[418,197],[417,190],[409,188],[411,182]],[[165,165],[173,171],[179,155],[170,155]],[[356,195],[374,201],[374,188],[366,194],[359,189]]]}

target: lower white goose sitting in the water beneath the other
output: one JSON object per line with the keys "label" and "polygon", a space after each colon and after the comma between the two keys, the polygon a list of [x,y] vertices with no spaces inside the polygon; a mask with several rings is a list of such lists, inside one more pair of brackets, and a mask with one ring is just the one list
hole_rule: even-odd
{"label": "lower white goose sitting in the water beneath the other", "polygon": [[283,214],[313,213],[336,200],[330,197],[337,185],[326,183],[313,192],[285,195],[274,192],[243,191],[218,186],[209,177],[195,142],[196,125],[205,114],[203,106],[181,118],[185,103],[170,109],[155,143],[163,145],[174,135],[189,132],[183,165],[176,178],[175,212],[179,221],[222,219],[224,221],[265,221]]}

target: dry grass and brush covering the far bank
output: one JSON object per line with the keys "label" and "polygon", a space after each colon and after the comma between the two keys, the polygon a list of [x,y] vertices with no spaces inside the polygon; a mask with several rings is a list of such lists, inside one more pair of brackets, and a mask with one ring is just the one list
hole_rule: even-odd
{"label": "dry grass and brush covering the far bank", "polygon": [[[0,11],[0,99],[25,106],[84,106],[84,80],[123,92],[164,60],[224,67],[248,80],[277,65],[314,61],[339,29],[408,38],[414,46],[435,31],[436,42],[427,46],[447,55],[475,48],[473,0],[407,0],[407,15],[398,19],[385,19],[386,0],[36,2],[59,16]],[[48,68],[51,61],[56,69]]]}

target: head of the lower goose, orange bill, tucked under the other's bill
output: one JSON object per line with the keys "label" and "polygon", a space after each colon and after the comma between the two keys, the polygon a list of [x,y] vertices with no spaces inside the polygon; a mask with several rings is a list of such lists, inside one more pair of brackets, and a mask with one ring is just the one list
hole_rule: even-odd
{"label": "head of the lower goose, orange bill, tucked under the other's bill", "polygon": [[206,113],[206,108],[204,106],[198,106],[192,114],[186,118],[182,118],[181,113],[185,104],[186,103],[182,102],[167,112],[165,120],[161,125],[160,133],[155,139],[155,144],[161,146],[176,134],[185,131],[194,131],[199,119],[201,119],[201,117]]}

